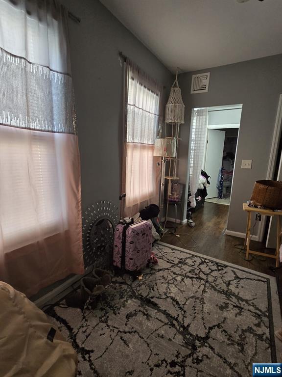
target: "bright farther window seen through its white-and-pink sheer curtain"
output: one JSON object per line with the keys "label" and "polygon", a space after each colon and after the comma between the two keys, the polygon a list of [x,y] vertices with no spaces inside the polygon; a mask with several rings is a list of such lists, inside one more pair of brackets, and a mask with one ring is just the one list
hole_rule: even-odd
{"label": "bright farther window seen through its white-and-pink sheer curtain", "polygon": [[159,127],[160,93],[135,78],[129,80],[127,103],[126,206],[158,195],[154,142]]}

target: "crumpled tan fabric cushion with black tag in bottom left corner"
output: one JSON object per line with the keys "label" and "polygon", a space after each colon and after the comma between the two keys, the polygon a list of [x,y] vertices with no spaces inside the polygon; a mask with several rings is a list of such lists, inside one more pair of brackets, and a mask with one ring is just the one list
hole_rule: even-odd
{"label": "crumpled tan fabric cushion with black tag in bottom left corner", "polygon": [[0,282],[0,377],[74,377],[76,367],[76,352],[43,311]]}

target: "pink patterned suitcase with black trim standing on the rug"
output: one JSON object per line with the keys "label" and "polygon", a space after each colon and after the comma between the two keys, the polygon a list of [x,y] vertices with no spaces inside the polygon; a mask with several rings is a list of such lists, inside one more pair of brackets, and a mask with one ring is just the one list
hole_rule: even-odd
{"label": "pink patterned suitcase with black trim standing on the rug", "polygon": [[114,266],[128,271],[145,267],[152,252],[151,224],[142,220],[135,224],[118,224],[115,231]]}

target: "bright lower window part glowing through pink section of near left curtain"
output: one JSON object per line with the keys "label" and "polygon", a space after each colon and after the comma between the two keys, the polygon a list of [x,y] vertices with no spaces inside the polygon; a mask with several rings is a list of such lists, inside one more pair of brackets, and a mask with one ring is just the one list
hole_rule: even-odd
{"label": "bright lower window part glowing through pink section of near left curtain", "polygon": [[60,135],[2,128],[0,182],[5,184],[1,185],[0,223],[4,250],[9,252],[53,235],[66,215],[58,191],[62,174],[56,139]]}

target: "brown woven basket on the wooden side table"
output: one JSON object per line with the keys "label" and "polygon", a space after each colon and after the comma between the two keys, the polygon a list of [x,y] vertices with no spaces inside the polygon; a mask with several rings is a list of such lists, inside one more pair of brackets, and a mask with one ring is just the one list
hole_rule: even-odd
{"label": "brown woven basket on the wooden side table", "polygon": [[255,206],[262,206],[271,210],[281,210],[282,182],[269,180],[255,182],[250,202]]}

